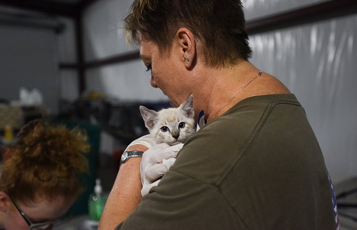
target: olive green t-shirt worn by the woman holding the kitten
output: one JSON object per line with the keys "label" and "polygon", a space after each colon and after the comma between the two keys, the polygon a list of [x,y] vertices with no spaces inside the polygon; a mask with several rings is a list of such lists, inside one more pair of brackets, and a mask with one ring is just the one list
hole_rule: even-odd
{"label": "olive green t-shirt worn by the woman holding the kitten", "polygon": [[336,230],[324,159],[293,94],[237,103],[189,139],[117,230]]}

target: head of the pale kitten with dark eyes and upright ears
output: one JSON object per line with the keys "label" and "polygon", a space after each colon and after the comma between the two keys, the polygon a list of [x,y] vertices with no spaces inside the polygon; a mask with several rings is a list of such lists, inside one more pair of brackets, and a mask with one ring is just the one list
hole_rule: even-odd
{"label": "head of the pale kitten with dark eyes and upright ears", "polygon": [[145,126],[157,143],[171,146],[184,143],[196,133],[192,94],[178,108],[161,109],[158,112],[142,105],[139,108]]}

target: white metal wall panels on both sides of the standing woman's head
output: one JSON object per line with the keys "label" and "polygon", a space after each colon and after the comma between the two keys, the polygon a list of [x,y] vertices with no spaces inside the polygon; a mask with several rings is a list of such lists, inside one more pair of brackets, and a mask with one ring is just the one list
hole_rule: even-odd
{"label": "white metal wall panels on both sides of the standing woman's head", "polygon": [[[133,50],[123,23],[132,0],[101,0],[84,13],[86,60]],[[244,0],[247,21],[323,0]],[[257,34],[252,63],[273,74],[306,109],[333,181],[357,176],[357,15]],[[67,79],[68,80],[68,79]],[[119,99],[162,100],[141,60],[87,71],[87,88]]]}

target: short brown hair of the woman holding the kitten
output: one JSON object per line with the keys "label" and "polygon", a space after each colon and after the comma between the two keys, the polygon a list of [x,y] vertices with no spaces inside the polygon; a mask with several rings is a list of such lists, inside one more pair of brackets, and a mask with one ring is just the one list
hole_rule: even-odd
{"label": "short brown hair of the woman holding the kitten", "polygon": [[168,52],[179,28],[203,45],[207,65],[225,67],[252,55],[241,0],[134,0],[124,19],[126,38],[142,33],[161,53]]}

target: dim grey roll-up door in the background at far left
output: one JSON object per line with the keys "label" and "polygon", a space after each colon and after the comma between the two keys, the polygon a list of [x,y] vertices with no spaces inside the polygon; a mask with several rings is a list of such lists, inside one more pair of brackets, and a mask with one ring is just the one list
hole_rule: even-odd
{"label": "dim grey roll-up door in the background at far left", "polygon": [[[0,22],[0,98],[20,100],[20,88],[41,92],[50,114],[58,109],[58,74],[53,29]],[[26,104],[29,103],[27,98]],[[22,101],[21,103],[24,103]]]}

